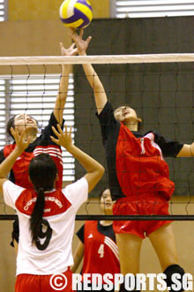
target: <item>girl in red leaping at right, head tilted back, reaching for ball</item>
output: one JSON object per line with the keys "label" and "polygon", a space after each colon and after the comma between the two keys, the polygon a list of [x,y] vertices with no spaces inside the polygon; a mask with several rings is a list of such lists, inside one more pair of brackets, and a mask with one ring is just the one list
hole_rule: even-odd
{"label": "girl in red leaping at right, head tilted back, reaching for ball", "polygon": [[[78,54],[86,56],[91,36],[83,40],[83,30],[78,35],[71,30]],[[93,88],[98,118],[101,123],[103,144],[106,148],[108,182],[113,200],[114,215],[168,215],[168,200],[175,185],[169,180],[168,165],[163,156],[192,157],[191,145],[167,141],[155,131],[138,133],[136,111],[121,106],[114,112],[92,65],[83,65],[86,78]],[[183,268],[178,265],[175,236],[169,221],[114,221],[116,243],[119,250],[121,273],[139,272],[139,255],[142,241],[148,236],[156,251],[160,265],[166,274],[167,287],[171,287],[171,275]],[[126,256],[127,255],[127,256]],[[124,284],[121,291],[125,291]],[[183,291],[180,288],[179,291]]]}

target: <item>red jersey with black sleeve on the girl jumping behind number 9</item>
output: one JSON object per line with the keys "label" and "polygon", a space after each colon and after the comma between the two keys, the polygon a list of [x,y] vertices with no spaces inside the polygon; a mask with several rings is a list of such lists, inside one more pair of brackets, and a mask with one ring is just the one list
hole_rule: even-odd
{"label": "red jersey with black sleeve on the girl jumping behind number 9", "polygon": [[[27,149],[22,155],[17,158],[11,169],[10,181],[14,182],[23,188],[33,188],[32,183],[28,180],[28,166],[32,158],[41,153],[48,153],[56,163],[58,171],[58,181],[56,181],[56,188],[62,188],[63,181],[63,159],[61,147],[52,142],[50,135],[56,136],[52,131],[52,126],[56,127],[57,120],[54,113],[51,114],[48,126],[45,127],[41,135],[32,143],[29,144]],[[4,149],[0,151],[0,163],[7,158],[12,150],[16,147],[15,142],[4,146]]]}

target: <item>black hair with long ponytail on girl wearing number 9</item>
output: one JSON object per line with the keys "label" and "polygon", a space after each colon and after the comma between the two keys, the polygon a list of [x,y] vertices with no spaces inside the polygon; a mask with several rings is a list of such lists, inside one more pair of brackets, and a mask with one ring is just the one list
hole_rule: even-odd
{"label": "black hair with long ponytail on girl wearing number 9", "polygon": [[55,187],[57,168],[54,160],[48,154],[41,153],[31,160],[28,173],[37,193],[34,210],[30,218],[32,241],[37,242],[44,214],[44,192]]}

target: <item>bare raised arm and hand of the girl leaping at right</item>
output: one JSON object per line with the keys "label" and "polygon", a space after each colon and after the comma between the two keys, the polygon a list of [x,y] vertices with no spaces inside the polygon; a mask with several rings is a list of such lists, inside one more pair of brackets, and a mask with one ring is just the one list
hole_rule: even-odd
{"label": "bare raised arm and hand of the girl leaping at right", "polygon": [[[80,30],[80,34],[78,35],[75,29],[71,29],[71,38],[76,43],[78,48],[79,56],[86,56],[86,50],[91,41],[92,37],[88,36],[86,41],[83,40],[84,29]],[[93,69],[93,65],[91,64],[83,64],[84,71],[86,73],[87,81],[90,83],[93,88],[93,94],[95,97],[95,104],[98,111],[98,114],[101,113],[101,110],[104,108],[104,105],[107,103],[107,95],[104,90],[103,85],[99,79],[99,76]]]}

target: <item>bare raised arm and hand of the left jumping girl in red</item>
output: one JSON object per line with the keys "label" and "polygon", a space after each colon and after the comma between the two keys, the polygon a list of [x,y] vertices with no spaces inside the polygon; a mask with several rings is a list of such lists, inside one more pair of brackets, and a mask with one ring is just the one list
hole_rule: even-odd
{"label": "bare raised arm and hand of the left jumping girl in red", "polygon": [[[63,47],[63,43],[60,42],[60,49],[62,56],[74,56],[78,53],[78,49],[75,48],[75,43],[72,43],[69,49]],[[56,104],[54,107],[54,114],[57,122],[62,125],[63,122],[63,110],[67,98],[69,75],[71,72],[71,65],[62,65],[62,74],[59,84],[58,94],[56,96]]]}

